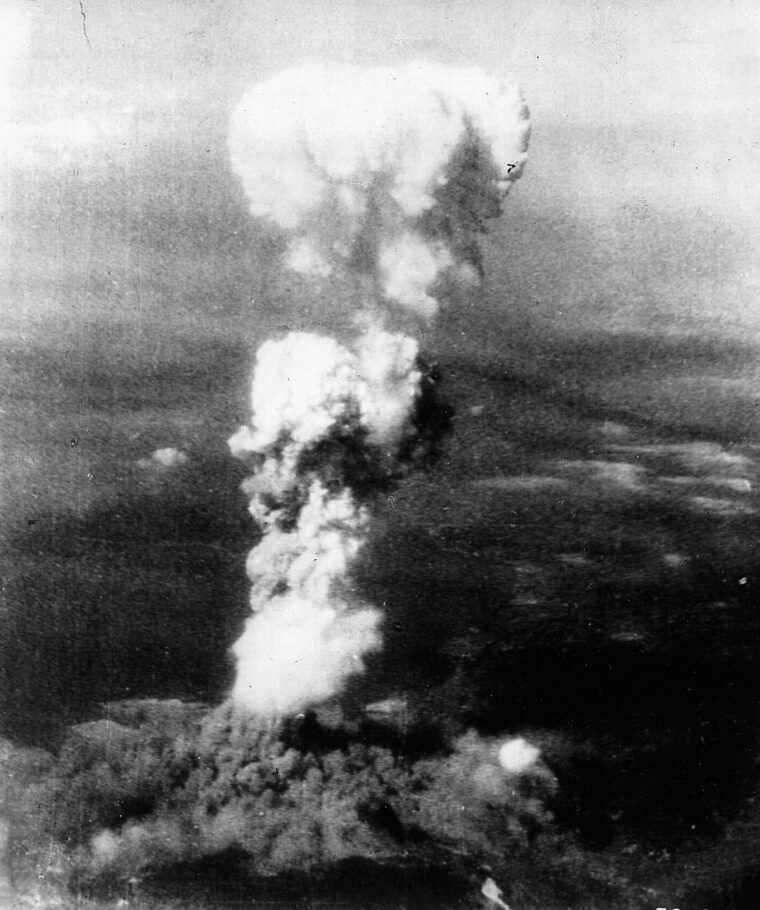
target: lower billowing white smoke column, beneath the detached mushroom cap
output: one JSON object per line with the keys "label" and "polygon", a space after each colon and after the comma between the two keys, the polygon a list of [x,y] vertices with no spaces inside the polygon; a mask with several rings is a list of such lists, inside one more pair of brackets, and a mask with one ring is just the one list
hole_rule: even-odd
{"label": "lower billowing white smoke column, beneath the detached mushroom cap", "polygon": [[395,467],[410,422],[416,357],[413,340],[379,331],[356,353],[305,332],[259,349],[252,422],[230,440],[256,466],[245,489],[263,531],[247,563],[254,615],[234,647],[232,697],[253,713],[329,697],[380,643],[378,612],[341,588],[368,532],[363,487]]}

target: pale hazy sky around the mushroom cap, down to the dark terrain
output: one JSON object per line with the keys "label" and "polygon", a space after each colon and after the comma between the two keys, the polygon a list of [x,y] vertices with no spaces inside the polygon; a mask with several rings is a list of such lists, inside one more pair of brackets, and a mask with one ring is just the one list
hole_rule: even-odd
{"label": "pale hazy sky around the mushroom cap, down to the dark terrain", "polygon": [[[57,471],[50,496],[84,502],[99,450],[76,470],[81,447],[50,452],[81,433],[93,376],[135,385],[187,339],[311,327],[311,300],[294,322],[268,293],[226,151],[242,94],[303,62],[475,63],[523,86],[528,166],[477,312],[425,338],[436,356],[454,338],[560,383],[577,363],[612,405],[760,438],[759,42],[756,0],[0,0],[5,487]],[[599,357],[584,332],[628,334]],[[56,411],[61,371],[76,414]]]}

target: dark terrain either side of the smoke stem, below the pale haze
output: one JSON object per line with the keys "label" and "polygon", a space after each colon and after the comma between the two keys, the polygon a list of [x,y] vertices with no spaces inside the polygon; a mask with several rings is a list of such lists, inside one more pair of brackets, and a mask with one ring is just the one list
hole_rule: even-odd
{"label": "dark terrain either side of the smoke stem, below the pale haze", "polygon": [[[223,698],[255,540],[224,446],[248,358],[199,346],[147,376],[90,376],[77,445],[119,448],[127,467],[87,507],[12,528],[4,736],[54,749],[109,701]],[[17,369],[43,366],[65,395],[63,358]],[[705,853],[699,900],[754,906],[756,447],[505,365],[440,368],[454,432],[377,505],[357,583],[385,605],[385,647],[344,710],[400,695],[447,736],[529,731],[560,781],[557,820],[585,849],[676,879]],[[188,400],[213,414],[183,440],[190,462],[135,466],[173,440],[139,424],[119,437],[120,415],[158,408],[170,425]],[[746,856],[719,846],[729,829]]]}

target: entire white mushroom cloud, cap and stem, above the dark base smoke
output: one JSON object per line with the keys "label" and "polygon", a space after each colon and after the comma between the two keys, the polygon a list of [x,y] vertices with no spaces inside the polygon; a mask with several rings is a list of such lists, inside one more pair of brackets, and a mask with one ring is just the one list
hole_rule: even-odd
{"label": "entire white mushroom cloud, cap and stem, above the dark base smoke", "polygon": [[294,332],[258,351],[250,424],[230,440],[262,538],[234,646],[232,699],[268,717],[339,691],[380,646],[351,565],[372,501],[420,432],[417,341],[446,276],[476,282],[477,235],[520,176],[529,134],[519,91],[481,70],[305,66],[256,85],[229,146],[251,214],[286,239],[284,265],[350,289],[354,341]]}

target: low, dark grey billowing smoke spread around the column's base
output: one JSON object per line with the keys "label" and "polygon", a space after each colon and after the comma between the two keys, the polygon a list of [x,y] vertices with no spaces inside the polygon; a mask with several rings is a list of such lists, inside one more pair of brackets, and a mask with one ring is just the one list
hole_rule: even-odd
{"label": "low, dark grey billowing smoke spread around the column's base", "polygon": [[497,866],[550,820],[554,777],[513,740],[518,753],[507,770],[502,741],[469,733],[415,760],[313,718],[263,726],[229,703],[125,702],[72,728],[55,773],[14,795],[48,807],[24,821],[38,827],[17,865],[42,860],[44,832],[66,845],[60,873],[80,890],[230,850],[254,877],[351,857]]}

